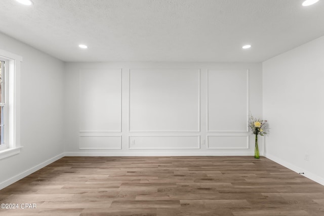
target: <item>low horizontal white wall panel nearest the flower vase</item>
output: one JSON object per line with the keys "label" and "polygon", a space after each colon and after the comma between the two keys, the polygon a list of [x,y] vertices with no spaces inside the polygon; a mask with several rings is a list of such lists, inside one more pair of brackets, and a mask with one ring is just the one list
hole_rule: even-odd
{"label": "low horizontal white wall panel nearest the flower vase", "polygon": [[248,135],[211,135],[207,136],[208,149],[248,149],[249,136]]}

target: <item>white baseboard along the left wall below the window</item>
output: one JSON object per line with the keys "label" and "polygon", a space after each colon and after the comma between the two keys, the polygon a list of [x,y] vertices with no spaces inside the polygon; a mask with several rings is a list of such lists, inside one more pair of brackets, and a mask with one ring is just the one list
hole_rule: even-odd
{"label": "white baseboard along the left wall below the window", "polygon": [[0,183],[0,190],[5,188],[5,187],[8,187],[9,185],[11,185],[11,184],[23,179],[23,178],[25,178],[26,176],[28,176],[28,175],[32,174],[33,172],[37,171],[38,169],[41,169],[41,168],[53,163],[54,161],[56,161],[56,160],[58,160],[58,159],[60,159],[60,158],[62,158],[64,156],[65,156],[64,153],[59,154],[59,155],[57,155],[55,157],[52,157],[49,160],[44,161],[43,163],[40,163],[40,164],[30,168],[30,169],[27,169],[27,170],[21,172],[20,174],[18,174],[16,176],[14,176],[14,177]]}

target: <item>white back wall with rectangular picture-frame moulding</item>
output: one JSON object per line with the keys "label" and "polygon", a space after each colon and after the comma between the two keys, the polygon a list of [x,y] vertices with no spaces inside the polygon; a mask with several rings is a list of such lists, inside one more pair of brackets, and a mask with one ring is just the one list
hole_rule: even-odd
{"label": "white back wall with rectangular picture-frame moulding", "polygon": [[[253,155],[261,64],[67,63],[66,155]],[[261,145],[262,153],[262,145]]]}

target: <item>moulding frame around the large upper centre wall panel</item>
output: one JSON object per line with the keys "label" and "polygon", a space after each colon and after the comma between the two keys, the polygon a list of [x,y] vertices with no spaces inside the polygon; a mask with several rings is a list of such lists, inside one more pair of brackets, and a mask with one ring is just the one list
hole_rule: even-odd
{"label": "moulding frame around the large upper centre wall panel", "polygon": [[[148,130],[148,129],[132,129],[131,128],[131,125],[132,125],[132,122],[131,122],[131,74],[132,74],[132,71],[135,71],[135,70],[142,70],[142,71],[187,71],[187,70],[190,70],[190,71],[195,71],[197,72],[197,114],[196,114],[196,118],[197,118],[197,125],[195,126],[196,129],[193,129],[193,130],[183,130],[183,129],[164,129],[164,130],[159,130],[159,129],[153,129],[153,130]],[[167,69],[160,69],[160,68],[145,68],[145,69],[129,69],[129,89],[128,89],[128,94],[129,94],[129,99],[128,99],[128,132],[166,132],[166,133],[172,133],[172,132],[200,132],[200,69],[187,69],[187,68],[167,68]],[[179,85],[181,86],[181,85]],[[171,97],[172,95],[170,95]],[[189,115],[190,116],[190,115]]]}

